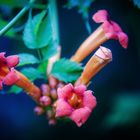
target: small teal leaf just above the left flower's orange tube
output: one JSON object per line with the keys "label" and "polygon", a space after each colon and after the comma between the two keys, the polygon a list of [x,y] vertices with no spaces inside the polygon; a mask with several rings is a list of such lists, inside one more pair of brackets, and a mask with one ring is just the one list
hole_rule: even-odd
{"label": "small teal leaf just above the left flower's orange tube", "polygon": [[31,81],[43,78],[42,74],[36,68],[33,67],[23,68],[21,70],[21,73],[27,76]]}

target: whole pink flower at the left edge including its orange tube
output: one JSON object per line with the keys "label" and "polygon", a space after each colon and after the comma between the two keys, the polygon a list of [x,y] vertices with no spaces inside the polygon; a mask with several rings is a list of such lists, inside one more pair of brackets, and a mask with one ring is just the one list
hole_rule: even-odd
{"label": "whole pink flower at the left edge including its orange tube", "polygon": [[35,86],[27,77],[14,69],[19,63],[17,55],[5,57],[5,53],[0,53],[0,90],[2,85],[17,85],[23,88],[35,101],[38,102],[41,94],[40,89]]}

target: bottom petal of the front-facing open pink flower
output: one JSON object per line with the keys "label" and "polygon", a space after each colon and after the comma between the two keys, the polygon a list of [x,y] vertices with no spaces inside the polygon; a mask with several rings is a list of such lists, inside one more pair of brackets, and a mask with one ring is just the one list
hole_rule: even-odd
{"label": "bottom petal of the front-facing open pink flower", "polygon": [[91,110],[88,107],[84,107],[74,110],[70,115],[70,119],[73,120],[78,127],[80,127],[87,121],[90,114]]}

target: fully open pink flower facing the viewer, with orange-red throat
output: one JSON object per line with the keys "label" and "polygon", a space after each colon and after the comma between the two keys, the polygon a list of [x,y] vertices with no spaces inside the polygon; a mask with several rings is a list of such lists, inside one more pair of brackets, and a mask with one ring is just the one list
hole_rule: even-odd
{"label": "fully open pink flower facing the viewer, with orange-red throat", "polygon": [[56,117],[69,117],[78,127],[84,124],[96,106],[96,98],[85,85],[74,87],[67,84],[58,88],[58,100],[55,103]]}

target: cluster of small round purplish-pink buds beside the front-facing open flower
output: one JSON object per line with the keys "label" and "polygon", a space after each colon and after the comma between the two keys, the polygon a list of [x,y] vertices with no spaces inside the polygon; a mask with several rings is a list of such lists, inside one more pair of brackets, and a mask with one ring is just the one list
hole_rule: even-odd
{"label": "cluster of small round purplish-pink buds beside the front-facing open flower", "polygon": [[37,115],[46,114],[50,125],[56,124],[54,103],[58,99],[57,89],[64,87],[64,83],[59,82],[53,76],[49,77],[49,84],[41,85],[41,97],[39,98],[39,106],[34,108]]}

